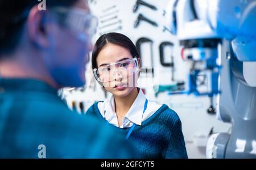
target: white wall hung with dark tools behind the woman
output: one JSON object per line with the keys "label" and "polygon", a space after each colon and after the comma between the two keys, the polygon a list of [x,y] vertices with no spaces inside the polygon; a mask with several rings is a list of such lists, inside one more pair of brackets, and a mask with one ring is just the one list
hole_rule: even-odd
{"label": "white wall hung with dark tools behind the woman", "polygon": [[[158,68],[159,74],[156,75],[156,80],[158,80],[160,85],[170,85],[175,82],[171,81],[171,70],[172,68],[164,68],[160,65],[160,57],[159,57],[159,45],[164,41],[169,41],[174,43],[174,49],[170,53],[174,56],[175,63],[175,79],[176,80],[185,80],[187,77],[186,72],[188,68],[181,60],[180,52],[181,48],[179,47],[179,43],[174,35],[171,35],[168,31],[163,32],[163,26],[165,25],[165,18],[163,16],[163,10],[166,9],[166,5],[168,0],[144,0],[152,5],[155,5],[158,10],[154,11],[148,9],[148,7],[139,6],[137,13],[133,13],[133,7],[135,5],[136,0],[94,0],[90,3],[90,7],[94,15],[98,17],[101,22],[100,16],[111,13],[112,11],[119,10],[118,18],[112,20],[108,23],[113,23],[122,20],[121,24],[116,24],[112,27],[105,28],[104,30],[97,30],[96,36],[94,36],[93,42],[96,42],[97,38],[101,35],[100,32],[110,31],[119,25],[122,26],[122,30],[117,30],[114,32],[120,32],[122,34],[127,35],[134,43],[141,37],[147,37],[154,40],[154,67]],[[90,2],[90,1],[89,1]],[[112,9],[106,13],[103,10],[108,9],[109,7],[115,5],[115,9]],[[155,20],[159,27],[151,26],[146,22],[141,22],[138,28],[134,28],[134,22],[137,19],[139,13],[142,13],[147,18]],[[115,16],[115,15],[111,15]],[[106,17],[112,18],[111,16]],[[108,24],[107,22],[105,24]],[[104,24],[99,24],[99,27],[104,26]],[[144,48],[143,48],[144,49]],[[150,52],[149,49],[143,50],[143,60],[144,63],[150,61]],[[171,54],[170,54],[171,56]],[[146,60],[146,61],[145,61]],[[91,65],[88,64],[87,68],[91,68]],[[85,104],[86,109],[94,102],[98,100],[104,100],[105,94],[103,90],[101,90],[100,86],[94,81],[94,77],[92,75],[92,70],[88,69],[86,72],[86,80],[87,86],[85,92],[75,91],[69,93],[67,90],[65,91],[65,95],[68,100],[68,104],[71,107],[72,101],[82,101]],[[94,89],[94,90],[93,90]],[[185,136],[185,142],[187,146],[188,156],[189,158],[205,158],[205,139],[209,134],[209,131],[212,127],[214,127],[214,132],[222,132],[228,131],[230,125],[217,121],[215,115],[209,115],[207,113],[207,109],[210,105],[208,97],[194,97],[194,96],[169,96],[167,92],[160,93],[157,98],[155,98],[154,94],[146,93],[148,99],[154,100],[160,104],[166,103],[171,109],[174,109],[179,115],[181,122],[183,123],[183,133]],[[195,138],[195,136],[199,136]],[[205,136],[205,138],[203,138]],[[201,140],[196,140],[201,139]],[[199,147],[201,146],[201,147]]]}

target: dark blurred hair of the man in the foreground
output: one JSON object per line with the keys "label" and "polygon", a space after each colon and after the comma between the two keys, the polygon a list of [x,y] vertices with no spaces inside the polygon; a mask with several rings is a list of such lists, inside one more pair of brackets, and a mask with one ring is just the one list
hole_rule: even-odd
{"label": "dark blurred hair of the man in the foreground", "polygon": [[[79,0],[46,0],[46,7],[69,7]],[[12,52],[18,45],[21,30],[30,11],[38,0],[0,0],[0,55]],[[47,10],[47,9],[46,9]]]}

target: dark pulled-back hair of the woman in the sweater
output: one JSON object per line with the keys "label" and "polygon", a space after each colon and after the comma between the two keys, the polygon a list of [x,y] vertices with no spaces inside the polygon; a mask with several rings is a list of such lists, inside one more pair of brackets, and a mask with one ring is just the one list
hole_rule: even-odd
{"label": "dark pulled-back hair of the woman in the sweater", "polygon": [[92,53],[92,69],[97,68],[96,60],[98,54],[101,52],[102,48],[104,48],[105,45],[109,43],[129,49],[133,58],[140,57],[137,48],[127,36],[117,32],[110,32],[108,34],[101,35],[100,38],[98,38],[96,44],[94,45]]}

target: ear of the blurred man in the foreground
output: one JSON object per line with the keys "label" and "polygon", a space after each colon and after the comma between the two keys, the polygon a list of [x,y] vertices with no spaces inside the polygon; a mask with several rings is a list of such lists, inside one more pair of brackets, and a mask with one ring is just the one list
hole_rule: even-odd
{"label": "ear of the blurred man in the foreground", "polygon": [[40,48],[47,48],[49,46],[46,11],[40,11],[38,10],[38,6],[34,6],[28,15],[27,27],[28,36],[32,43]]}

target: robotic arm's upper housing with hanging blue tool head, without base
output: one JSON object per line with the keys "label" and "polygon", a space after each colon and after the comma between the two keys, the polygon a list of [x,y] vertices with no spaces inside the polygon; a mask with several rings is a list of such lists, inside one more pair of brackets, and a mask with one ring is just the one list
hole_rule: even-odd
{"label": "robotic arm's upper housing with hanging blue tool head, without base", "polygon": [[[216,89],[220,73],[217,58],[223,39],[232,42],[239,61],[256,61],[252,52],[256,47],[256,1],[176,0],[170,1],[168,8],[170,30],[184,46],[183,59],[191,61],[187,93],[220,93]],[[208,76],[207,93],[197,91],[196,80],[203,72]]]}

